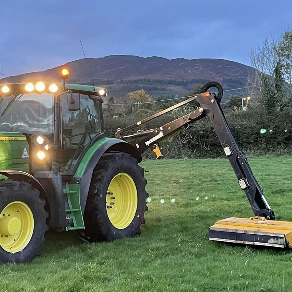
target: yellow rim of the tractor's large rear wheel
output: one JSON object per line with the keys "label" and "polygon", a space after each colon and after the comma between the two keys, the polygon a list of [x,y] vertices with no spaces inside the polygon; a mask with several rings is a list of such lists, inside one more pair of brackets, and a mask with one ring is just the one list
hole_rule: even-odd
{"label": "yellow rim of the tractor's large rear wheel", "polygon": [[107,216],[117,229],[128,227],[138,204],[136,185],[127,173],[117,174],[109,184],[106,198]]}

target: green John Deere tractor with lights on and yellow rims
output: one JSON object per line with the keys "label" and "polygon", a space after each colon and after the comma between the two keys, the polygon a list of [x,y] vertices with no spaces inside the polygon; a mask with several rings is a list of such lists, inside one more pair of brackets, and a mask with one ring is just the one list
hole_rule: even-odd
{"label": "green John Deere tractor with lights on and yellow rims", "polygon": [[141,154],[106,138],[104,88],[0,85],[0,263],[30,261],[50,229],[86,241],[140,234],[147,210]]}

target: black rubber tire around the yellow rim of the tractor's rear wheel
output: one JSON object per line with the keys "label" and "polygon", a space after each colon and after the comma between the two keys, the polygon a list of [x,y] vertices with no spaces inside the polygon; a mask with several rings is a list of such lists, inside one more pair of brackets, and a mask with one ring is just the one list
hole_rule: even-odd
{"label": "black rubber tire around the yellow rim of the tractor's rear wheel", "polygon": [[[131,223],[124,229],[116,228],[107,215],[106,195],[110,182],[115,175],[127,173],[137,189],[137,209]],[[121,152],[105,153],[95,167],[84,212],[85,237],[89,241],[112,241],[140,234],[140,226],[145,223],[147,211],[145,191],[147,184],[144,168],[131,155]]]}

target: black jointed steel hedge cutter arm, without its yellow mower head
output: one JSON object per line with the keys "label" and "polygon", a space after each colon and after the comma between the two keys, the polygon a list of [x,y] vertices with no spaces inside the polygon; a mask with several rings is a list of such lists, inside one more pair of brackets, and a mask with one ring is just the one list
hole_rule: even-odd
{"label": "black jointed steel hedge cutter arm, without its yellow mower head", "polygon": [[[208,86],[204,87],[208,89]],[[209,86],[209,88],[210,87],[211,86]],[[239,149],[233,138],[230,127],[228,126],[227,120],[220,106],[221,97],[222,93],[219,99],[214,93],[207,92],[197,94],[193,98],[190,98],[189,100],[185,100],[185,102],[181,102],[180,104],[178,104],[179,106],[181,106],[182,104],[188,103],[192,100],[197,100],[197,102],[199,103],[199,107],[190,114],[186,114],[183,117],[180,117],[174,121],[171,121],[168,124],[165,124],[155,129],[140,132],[138,131],[132,135],[121,136],[121,133],[139,125],[138,122],[137,124],[133,124],[125,129],[118,129],[118,131],[116,132],[116,137],[121,139],[128,137],[143,137],[141,140],[139,140],[138,143],[135,144],[138,151],[140,153],[143,153],[148,148],[151,148],[156,153],[157,158],[159,158],[161,156],[158,147],[159,142],[169,138],[170,136],[175,135],[180,131],[186,130],[187,128],[192,126],[192,123],[194,121],[208,116],[220,140],[225,155],[227,156],[235,172],[235,175],[237,176],[239,185],[241,189],[244,190],[246,197],[248,198],[254,214],[256,216],[263,216],[267,219],[274,220],[274,211],[269,206],[263,194],[263,190],[260,188],[258,182],[256,181],[256,178],[253,175],[253,172],[251,171],[251,168],[247,162],[247,156],[244,154],[243,151]],[[178,106],[176,105],[176,107]],[[171,110],[176,107],[171,107]],[[161,111],[142,121],[149,121],[150,119],[154,119],[155,117],[158,117],[165,112],[169,112],[169,110],[170,108],[165,109],[164,111]]]}

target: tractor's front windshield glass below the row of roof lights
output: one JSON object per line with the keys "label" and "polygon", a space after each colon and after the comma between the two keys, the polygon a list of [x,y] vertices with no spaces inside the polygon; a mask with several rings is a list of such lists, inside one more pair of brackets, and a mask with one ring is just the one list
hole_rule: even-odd
{"label": "tractor's front windshield glass below the row of roof lights", "polygon": [[52,93],[25,93],[0,97],[0,131],[34,135],[53,134]]}

